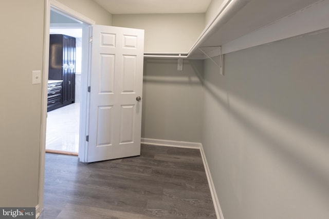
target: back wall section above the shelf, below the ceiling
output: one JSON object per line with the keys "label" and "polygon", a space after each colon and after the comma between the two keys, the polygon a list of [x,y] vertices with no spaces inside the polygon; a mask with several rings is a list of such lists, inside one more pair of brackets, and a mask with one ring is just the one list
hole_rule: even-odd
{"label": "back wall section above the shelf, below the ceiling", "polygon": [[113,26],[145,30],[144,53],[188,53],[203,31],[204,13],[114,14]]}

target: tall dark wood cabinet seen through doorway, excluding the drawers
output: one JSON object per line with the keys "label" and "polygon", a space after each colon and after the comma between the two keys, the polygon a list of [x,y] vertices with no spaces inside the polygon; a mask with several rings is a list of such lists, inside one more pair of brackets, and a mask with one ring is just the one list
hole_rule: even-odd
{"label": "tall dark wood cabinet seen through doorway, excluding the drawers", "polygon": [[61,80],[61,106],[75,102],[76,38],[63,34],[50,34],[49,80]]}

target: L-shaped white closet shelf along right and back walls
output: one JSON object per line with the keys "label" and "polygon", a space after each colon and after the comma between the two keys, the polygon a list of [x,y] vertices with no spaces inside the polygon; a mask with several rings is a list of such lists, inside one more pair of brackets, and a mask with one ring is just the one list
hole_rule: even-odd
{"label": "L-shaped white closet shelf along right and back walls", "polygon": [[220,55],[220,51],[225,54],[326,31],[328,11],[329,0],[224,0],[188,53],[149,53],[144,57],[205,59]]}

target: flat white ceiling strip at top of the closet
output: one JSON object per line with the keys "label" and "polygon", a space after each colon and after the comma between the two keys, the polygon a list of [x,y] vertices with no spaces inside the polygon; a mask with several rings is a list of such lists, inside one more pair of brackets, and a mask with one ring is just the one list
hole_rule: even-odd
{"label": "flat white ceiling strip at top of the closet", "polygon": [[111,14],[205,13],[211,0],[94,0]]}

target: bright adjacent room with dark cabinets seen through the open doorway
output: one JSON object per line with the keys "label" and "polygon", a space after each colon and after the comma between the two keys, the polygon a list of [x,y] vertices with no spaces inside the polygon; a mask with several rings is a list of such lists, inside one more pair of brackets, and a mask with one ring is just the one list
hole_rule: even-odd
{"label": "bright adjacent room with dark cabinets seen through the open doorway", "polygon": [[[82,26],[59,11],[50,10],[47,152],[72,155],[79,152]],[[71,60],[65,59],[69,49],[63,44],[57,50],[52,49],[65,40],[72,41]]]}

